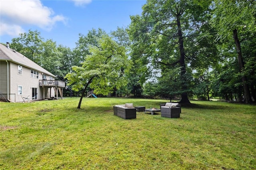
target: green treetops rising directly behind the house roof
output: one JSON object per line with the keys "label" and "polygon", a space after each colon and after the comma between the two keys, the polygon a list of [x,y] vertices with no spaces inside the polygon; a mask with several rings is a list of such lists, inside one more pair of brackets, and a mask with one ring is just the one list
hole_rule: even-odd
{"label": "green treetops rising directly behind the house roof", "polygon": [[10,47],[50,71],[60,80],[64,80],[64,76],[71,71],[72,65],[76,65],[70,48],[62,45],[57,47],[53,40],[44,41],[37,30],[29,30],[28,33],[13,38]]}

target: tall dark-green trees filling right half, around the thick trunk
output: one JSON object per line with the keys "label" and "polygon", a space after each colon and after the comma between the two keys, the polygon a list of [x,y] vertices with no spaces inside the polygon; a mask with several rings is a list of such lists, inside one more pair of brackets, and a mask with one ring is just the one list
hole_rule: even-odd
{"label": "tall dark-green trees filling right half, around the thick trunk", "polygon": [[148,0],[142,9],[128,30],[134,72],[160,73],[144,93],[255,101],[256,1]]}

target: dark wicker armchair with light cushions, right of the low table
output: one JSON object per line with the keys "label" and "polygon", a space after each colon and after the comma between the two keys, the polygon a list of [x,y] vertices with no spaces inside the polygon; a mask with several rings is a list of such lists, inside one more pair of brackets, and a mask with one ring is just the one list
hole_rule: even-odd
{"label": "dark wicker armchair with light cushions, right of the low table", "polygon": [[179,118],[181,107],[178,106],[180,106],[179,103],[166,103],[164,106],[161,106],[161,117]]}

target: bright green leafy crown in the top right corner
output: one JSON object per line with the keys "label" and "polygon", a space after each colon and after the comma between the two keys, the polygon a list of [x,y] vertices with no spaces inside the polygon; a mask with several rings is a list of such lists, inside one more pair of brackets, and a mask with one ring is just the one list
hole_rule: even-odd
{"label": "bright green leafy crown in the top right corner", "polygon": [[232,31],[238,34],[255,33],[256,2],[254,0],[214,0],[212,22],[219,39],[232,39]]}

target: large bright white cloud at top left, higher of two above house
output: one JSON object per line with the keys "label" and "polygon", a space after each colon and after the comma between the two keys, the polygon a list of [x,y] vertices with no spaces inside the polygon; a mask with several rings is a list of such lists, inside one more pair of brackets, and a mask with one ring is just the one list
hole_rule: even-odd
{"label": "large bright white cloud at top left, higher of two above house", "polygon": [[[54,15],[54,11],[43,6],[40,0],[1,0],[0,5],[1,30],[2,25],[12,28],[24,25],[34,25],[45,30],[51,30],[56,22],[66,22],[62,15]],[[2,32],[2,31],[1,31]]]}

